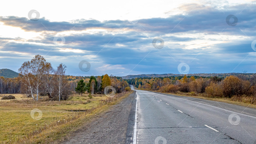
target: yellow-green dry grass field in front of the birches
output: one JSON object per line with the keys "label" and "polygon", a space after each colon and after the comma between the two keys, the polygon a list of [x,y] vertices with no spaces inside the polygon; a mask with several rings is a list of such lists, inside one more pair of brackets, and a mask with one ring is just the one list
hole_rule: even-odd
{"label": "yellow-green dry grass field in front of the birches", "polygon": [[[22,94],[11,94],[16,99],[0,100],[0,143],[49,143],[61,139],[68,132],[89,121],[124,95],[75,94],[66,101],[49,101],[39,97],[35,102]],[[2,97],[0,97],[1,99]]]}

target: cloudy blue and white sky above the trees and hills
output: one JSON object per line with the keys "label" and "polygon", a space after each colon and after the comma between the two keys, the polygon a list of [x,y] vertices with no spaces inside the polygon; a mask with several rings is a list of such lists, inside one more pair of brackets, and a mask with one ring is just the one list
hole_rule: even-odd
{"label": "cloudy blue and white sky above the trees and hills", "polygon": [[[256,1],[5,1],[0,69],[40,54],[69,75],[255,73]],[[80,63],[80,67],[79,67]]]}

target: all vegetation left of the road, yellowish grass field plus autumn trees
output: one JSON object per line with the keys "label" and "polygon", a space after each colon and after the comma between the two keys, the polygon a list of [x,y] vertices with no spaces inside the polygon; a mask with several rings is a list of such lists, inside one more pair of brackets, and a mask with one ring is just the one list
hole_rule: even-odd
{"label": "all vegetation left of the road, yellowish grass field plus autumn trees", "polygon": [[0,77],[0,144],[58,143],[131,93],[121,77],[70,76],[40,55]]}

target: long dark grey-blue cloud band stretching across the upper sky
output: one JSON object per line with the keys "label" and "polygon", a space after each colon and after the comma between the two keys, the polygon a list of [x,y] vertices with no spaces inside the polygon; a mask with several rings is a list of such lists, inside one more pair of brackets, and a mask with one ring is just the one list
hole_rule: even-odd
{"label": "long dark grey-blue cloud band stretching across the upper sky", "polygon": [[[231,7],[225,7],[224,10],[219,10],[216,7],[206,7],[198,4],[187,4],[182,6],[187,11],[186,15],[172,15],[168,18],[150,18],[141,19],[137,24],[131,24],[128,21],[111,20],[111,21],[97,21],[97,20],[74,20],[70,22],[51,22],[47,19],[40,18],[38,21],[30,21],[25,17],[0,17],[0,21],[5,25],[21,27],[26,31],[68,31],[68,30],[85,30],[88,28],[105,28],[105,29],[122,29],[129,28],[139,32],[146,30],[147,33],[180,33],[180,32],[206,32],[219,33],[222,32],[243,34],[237,30],[240,27],[242,30],[255,29],[255,4],[250,4],[246,7],[245,4],[240,4]],[[246,7],[246,9],[244,9]],[[243,10],[244,9],[244,10]],[[238,18],[236,27],[227,25],[225,19],[229,14],[233,14]],[[143,27],[143,29],[141,28]],[[247,35],[253,35],[252,31],[247,31]]]}

